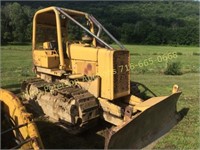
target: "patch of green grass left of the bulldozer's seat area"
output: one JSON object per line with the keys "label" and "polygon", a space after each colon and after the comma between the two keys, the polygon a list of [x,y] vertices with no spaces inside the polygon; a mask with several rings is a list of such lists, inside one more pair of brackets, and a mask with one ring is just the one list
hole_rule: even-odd
{"label": "patch of green grass left of the bulldozer's seat area", "polygon": [[15,90],[32,73],[31,46],[1,46],[1,86]]}

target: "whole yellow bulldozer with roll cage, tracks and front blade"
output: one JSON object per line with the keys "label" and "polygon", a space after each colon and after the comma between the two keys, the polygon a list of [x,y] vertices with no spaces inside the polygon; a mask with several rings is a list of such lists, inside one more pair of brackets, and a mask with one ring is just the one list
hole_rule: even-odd
{"label": "whole yellow bulldozer with roll cage, tracks and front blade", "polygon": [[129,51],[88,13],[37,11],[32,56],[36,77],[21,91],[33,110],[73,134],[108,122],[105,149],[143,148],[177,122],[178,86],[169,96],[156,96],[131,81]]}

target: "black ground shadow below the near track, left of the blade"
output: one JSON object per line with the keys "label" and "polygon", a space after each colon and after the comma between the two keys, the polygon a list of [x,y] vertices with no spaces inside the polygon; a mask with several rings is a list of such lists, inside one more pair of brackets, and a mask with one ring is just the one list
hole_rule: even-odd
{"label": "black ground shadow below the near track, left of the blade", "polygon": [[104,137],[91,128],[81,134],[69,134],[62,127],[48,122],[36,121],[45,149],[103,149]]}

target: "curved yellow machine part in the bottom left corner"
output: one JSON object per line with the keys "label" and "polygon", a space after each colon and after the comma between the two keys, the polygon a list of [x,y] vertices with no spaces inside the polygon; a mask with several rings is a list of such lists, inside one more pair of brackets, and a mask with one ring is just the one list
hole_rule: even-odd
{"label": "curved yellow machine part in the bottom left corner", "polygon": [[[28,138],[36,138],[37,140],[33,140],[24,144],[21,149],[40,149],[44,148],[38,129],[34,122],[32,122],[31,114],[26,112],[25,107],[21,104],[20,100],[11,92],[0,89],[0,100],[3,102],[3,107],[5,113],[10,116],[13,120],[15,120],[16,125],[22,125],[28,123],[27,126],[19,128],[20,133],[22,134],[24,140]],[[18,135],[15,133],[15,136]]]}

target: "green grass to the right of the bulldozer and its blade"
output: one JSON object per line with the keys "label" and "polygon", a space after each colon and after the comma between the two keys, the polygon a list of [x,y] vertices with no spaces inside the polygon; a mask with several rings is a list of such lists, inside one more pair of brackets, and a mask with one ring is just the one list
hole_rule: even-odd
{"label": "green grass to the right of the bulldozer and its blade", "polygon": [[[145,59],[155,60],[152,65],[138,67],[132,70],[131,79],[144,83],[157,95],[169,95],[173,84],[178,84],[183,92],[177,105],[178,111],[188,108],[187,115],[175,126],[171,132],[155,145],[155,149],[199,149],[199,92],[200,92],[200,57],[198,47],[170,47],[170,46],[134,46],[128,45],[131,53],[131,62],[144,62]],[[169,52],[179,52],[173,61],[180,61],[183,75],[163,75],[167,61],[158,62],[157,57]],[[144,71],[141,71],[144,70]],[[186,113],[186,112],[185,112]]]}

